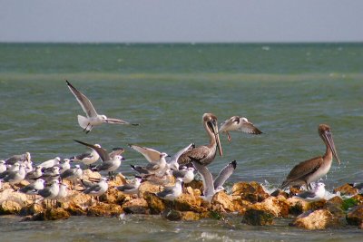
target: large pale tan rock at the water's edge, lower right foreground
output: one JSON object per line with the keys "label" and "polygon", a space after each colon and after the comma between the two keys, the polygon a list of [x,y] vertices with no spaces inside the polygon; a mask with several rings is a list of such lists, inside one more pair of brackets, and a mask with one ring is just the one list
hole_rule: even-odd
{"label": "large pale tan rock at the water's edge, lower right foreground", "polygon": [[327,209],[305,212],[290,224],[290,226],[303,227],[309,230],[326,229],[339,225],[338,218],[334,217]]}

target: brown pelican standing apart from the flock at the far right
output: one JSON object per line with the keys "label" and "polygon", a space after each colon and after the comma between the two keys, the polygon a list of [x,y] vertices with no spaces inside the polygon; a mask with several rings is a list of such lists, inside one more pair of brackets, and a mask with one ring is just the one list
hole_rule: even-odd
{"label": "brown pelican standing apart from the flock at the far right", "polygon": [[288,177],[282,182],[281,189],[284,189],[289,185],[301,184],[306,185],[307,189],[309,189],[310,182],[324,177],[329,172],[333,156],[338,160],[338,164],[340,165],[329,125],[320,124],[318,131],[320,138],[327,147],[325,154],[322,157],[319,156],[310,160],[305,160],[296,165],[291,169]]}

